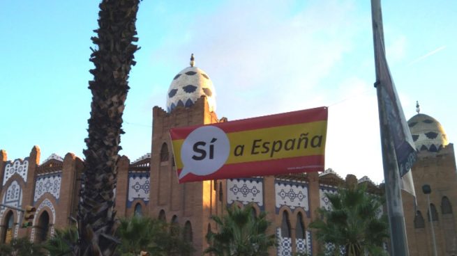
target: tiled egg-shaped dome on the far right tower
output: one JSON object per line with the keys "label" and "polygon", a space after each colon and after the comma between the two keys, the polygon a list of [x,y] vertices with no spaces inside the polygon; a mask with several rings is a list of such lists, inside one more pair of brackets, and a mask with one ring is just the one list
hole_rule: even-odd
{"label": "tiled egg-shaped dome on the far right tower", "polygon": [[408,120],[408,125],[417,150],[438,152],[449,144],[442,125],[430,115],[414,115]]}

